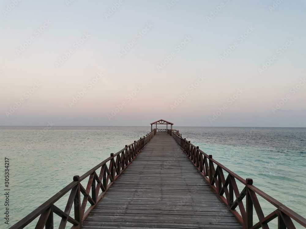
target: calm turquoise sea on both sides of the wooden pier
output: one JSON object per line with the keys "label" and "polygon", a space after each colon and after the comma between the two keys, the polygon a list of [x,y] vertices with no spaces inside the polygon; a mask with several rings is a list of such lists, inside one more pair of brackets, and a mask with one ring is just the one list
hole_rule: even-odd
{"label": "calm turquoise sea on both sides of the wooden pier", "polygon": [[[2,172],[10,159],[9,228],[89,169],[150,132],[150,127],[0,126]],[[306,217],[306,128],[174,127],[242,178]],[[3,181],[0,183],[4,187]],[[4,188],[3,188],[4,189]],[[59,202],[58,207],[63,203]],[[262,201],[264,213],[275,208]],[[30,226],[27,228],[34,228]],[[270,227],[270,228],[273,228]]]}

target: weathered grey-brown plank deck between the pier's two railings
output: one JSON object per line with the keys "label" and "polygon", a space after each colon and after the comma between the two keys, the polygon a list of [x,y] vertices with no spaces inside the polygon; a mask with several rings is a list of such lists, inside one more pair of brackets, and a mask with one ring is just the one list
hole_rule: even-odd
{"label": "weathered grey-brown plank deck between the pier's two railings", "polygon": [[177,142],[156,133],[81,228],[242,228]]}

